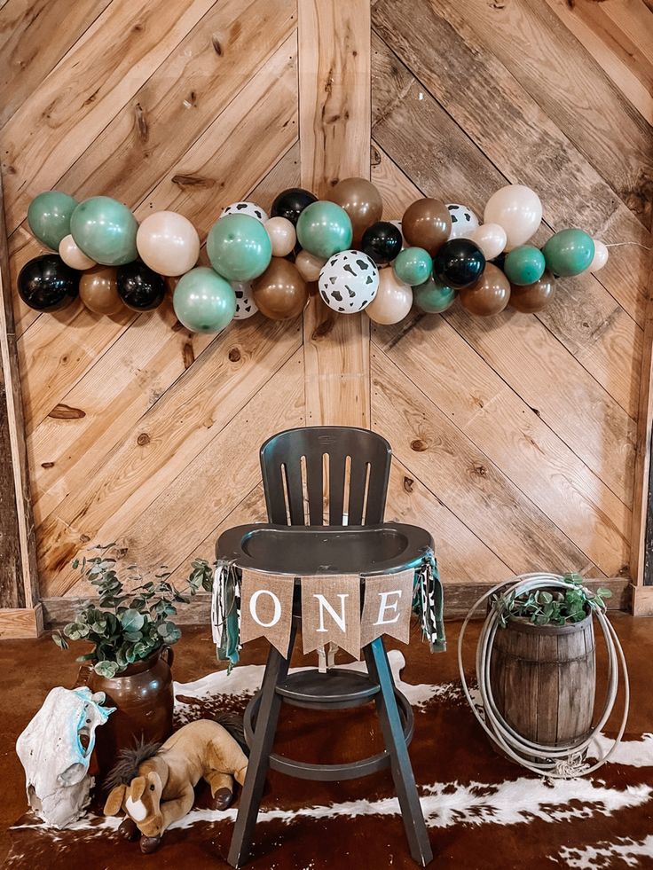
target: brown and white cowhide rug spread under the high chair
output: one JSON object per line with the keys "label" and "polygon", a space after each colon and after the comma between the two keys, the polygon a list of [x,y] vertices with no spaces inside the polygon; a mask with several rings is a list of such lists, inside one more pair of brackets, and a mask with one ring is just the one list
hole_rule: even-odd
{"label": "brown and white cowhide rug spread under the high chair", "polygon": [[[653,733],[629,731],[610,764],[593,777],[539,780],[486,741],[462,697],[452,647],[431,656],[418,640],[389,653],[397,686],[415,710],[411,756],[433,866],[653,867]],[[443,671],[448,681],[433,679]],[[176,683],[177,725],[210,717],[216,709],[244,709],[262,676],[263,666],[243,664],[229,677],[220,670]],[[648,696],[641,694],[647,701]],[[282,716],[276,748],[306,761],[353,760],[382,745],[372,708],[334,714],[284,708]],[[193,811],[169,829],[152,856],[141,855],[138,843],[119,839],[120,819],[90,814],[70,830],[52,831],[28,814],[12,827],[4,866],[226,867],[235,814],[235,808],[208,810],[199,788]],[[253,856],[250,866],[258,870],[414,866],[389,772],[343,783],[271,773]]]}

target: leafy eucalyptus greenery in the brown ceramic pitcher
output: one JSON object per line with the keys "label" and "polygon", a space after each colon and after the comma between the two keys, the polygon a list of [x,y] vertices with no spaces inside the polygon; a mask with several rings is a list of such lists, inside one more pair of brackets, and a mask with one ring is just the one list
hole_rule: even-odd
{"label": "leafy eucalyptus greenery in the brown ceramic pitcher", "polygon": [[[73,561],[73,568],[98,590],[98,604],[84,601],[72,623],[52,634],[61,649],[68,649],[68,640],[85,640],[93,645],[78,662],[93,662],[100,677],[115,677],[133,662],[140,662],[164,644],[174,644],[181,631],[171,619],[177,615],[177,604],[187,604],[196,592],[211,591],[213,569],[204,560],[195,560],[184,589],[170,583],[167,566],[146,579],[135,565],[123,582],[118,578],[115,544],[92,548],[98,555]],[[129,584],[126,591],[125,585]]]}

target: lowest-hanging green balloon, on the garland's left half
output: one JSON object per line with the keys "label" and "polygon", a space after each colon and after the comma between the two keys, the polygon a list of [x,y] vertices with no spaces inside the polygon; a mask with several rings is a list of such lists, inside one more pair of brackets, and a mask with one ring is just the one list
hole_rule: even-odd
{"label": "lowest-hanging green balloon, on the garland's left half", "polygon": [[182,275],[172,296],[177,320],[193,333],[219,333],[236,313],[236,294],[227,280],[208,266]]}

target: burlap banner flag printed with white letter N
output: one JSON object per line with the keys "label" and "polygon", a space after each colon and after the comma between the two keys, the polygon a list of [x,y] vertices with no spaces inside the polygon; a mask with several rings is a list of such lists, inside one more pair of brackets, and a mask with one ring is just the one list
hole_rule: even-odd
{"label": "burlap banner flag printed with white letter N", "polygon": [[303,651],[337,644],[360,658],[360,577],[302,577]]}

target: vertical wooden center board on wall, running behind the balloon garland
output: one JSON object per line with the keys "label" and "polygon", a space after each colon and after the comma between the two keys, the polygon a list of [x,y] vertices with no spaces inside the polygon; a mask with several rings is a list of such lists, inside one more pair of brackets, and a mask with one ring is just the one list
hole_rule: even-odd
{"label": "vertical wooden center board on wall, running behind the balloon garland", "polygon": [[[369,177],[370,4],[302,0],[298,12],[302,185],[321,196]],[[369,427],[368,319],[311,296],[304,346],[307,423]]]}

